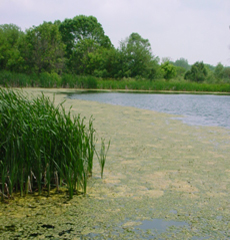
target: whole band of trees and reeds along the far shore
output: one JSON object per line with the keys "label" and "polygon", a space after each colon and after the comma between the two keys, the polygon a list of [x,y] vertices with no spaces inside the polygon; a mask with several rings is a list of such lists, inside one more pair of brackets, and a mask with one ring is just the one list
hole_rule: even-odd
{"label": "whole band of trees and reeds along the far shore", "polygon": [[[137,83],[120,83],[126,79]],[[96,89],[102,80],[114,81],[111,85],[119,89],[183,91],[186,85],[186,91],[228,92],[230,67],[203,62],[190,66],[184,58],[160,62],[149,40],[138,33],[115,48],[93,16],[43,22],[25,32],[13,24],[0,25],[0,85]],[[194,82],[212,86],[198,87]]]}

